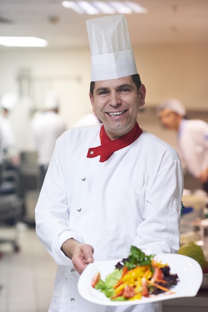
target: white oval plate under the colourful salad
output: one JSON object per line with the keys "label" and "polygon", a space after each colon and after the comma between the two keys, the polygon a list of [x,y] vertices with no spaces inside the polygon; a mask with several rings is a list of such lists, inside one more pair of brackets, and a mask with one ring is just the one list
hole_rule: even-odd
{"label": "white oval plate under the colourful salad", "polygon": [[163,301],[167,299],[179,297],[194,297],[197,295],[203,280],[202,268],[194,259],[179,254],[159,254],[155,256],[157,261],[162,261],[170,266],[172,274],[177,274],[179,282],[171,291],[174,294],[160,294],[151,297],[142,297],[141,300],[132,301],[111,301],[99,290],[91,286],[91,281],[97,272],[100,272],[101,278],[105,280],[105,276],[112,273],[114,266],[120,260],[96,261],[89,264],[80,276],[78,281],[78,291],[80,295],[94,303],[104,306],[131,306],[146,304],[155,301]]}

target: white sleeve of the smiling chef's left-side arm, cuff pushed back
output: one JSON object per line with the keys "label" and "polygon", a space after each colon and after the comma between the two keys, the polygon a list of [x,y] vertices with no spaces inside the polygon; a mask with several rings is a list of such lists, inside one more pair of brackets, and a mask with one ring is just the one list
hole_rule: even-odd
{"label": "white sleeve of the smiling chef's left-side arm, cuff pushed back", "polygon": [[71,264],[61,251],[64,241],[74,238],[83,243],[83,238],[69,228],[65,169],[65,150],[58,139],[35,208],[37,236],[58,265]]}

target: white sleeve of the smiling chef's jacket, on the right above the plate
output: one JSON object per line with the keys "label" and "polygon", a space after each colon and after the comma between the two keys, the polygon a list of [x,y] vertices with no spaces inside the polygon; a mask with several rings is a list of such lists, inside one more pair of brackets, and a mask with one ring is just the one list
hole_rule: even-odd
{"label": "white sleeve of the smiling chef's jacket, on the right above the plate", "polygon": [[176,253],[180,247],[183,170],[179,158],[166,153],[145,194],[145,216],[133,245],[147,254]]}

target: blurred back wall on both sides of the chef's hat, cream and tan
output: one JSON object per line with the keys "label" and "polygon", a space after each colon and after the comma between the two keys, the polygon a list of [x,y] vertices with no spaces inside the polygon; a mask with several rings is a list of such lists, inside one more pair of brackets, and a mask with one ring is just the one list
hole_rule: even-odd
{"label": "blurred back wall on both sides of the chef's hat, cream and tan", "polygon": [[[186,108],[208,110],[208,46],[141,46],[134,48],[134,54],[147,89],[147,107],[166,98],[178,98]],[[91,111],[90,67],[89,48],[0,50],[0,96],[8,91],[24,95],[12,116],[21,150],[33,149],[31,108],[43,107],[48,89],[60,92],[60,114],[68,128]],[[160,136],[161,129],[154,126],[152,118],[151,122],[143,119],[141,124]],[[174,145],[174,135],[168,133],[167,137]]]}

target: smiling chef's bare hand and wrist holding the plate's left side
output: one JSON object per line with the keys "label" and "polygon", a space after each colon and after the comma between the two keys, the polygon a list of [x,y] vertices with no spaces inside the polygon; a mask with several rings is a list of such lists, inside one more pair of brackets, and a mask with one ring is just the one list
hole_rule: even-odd
{"label": "smiling chef's bare hand and wrist holding the plate's left side", "polygon": [[63,243],[61,250],[72,260],[75,271],[79,274],[85,270],[89,263],[94,262],[94,248],[88,244],[80,244],[75,239],[68,239]]}

